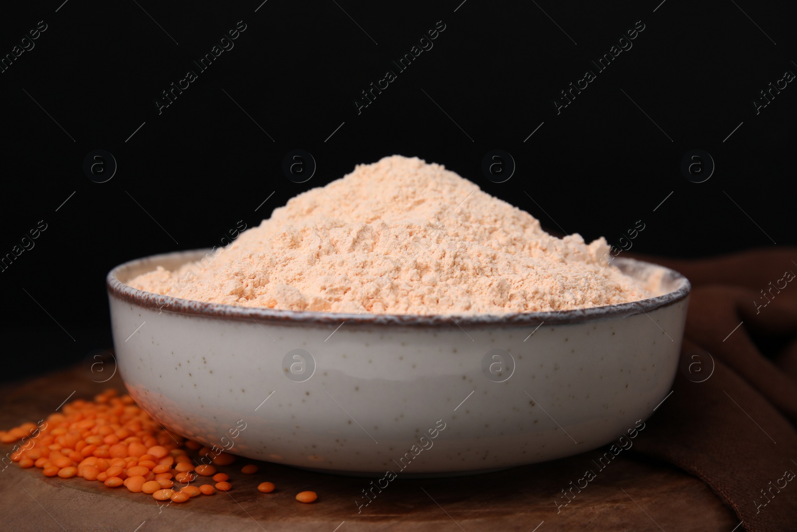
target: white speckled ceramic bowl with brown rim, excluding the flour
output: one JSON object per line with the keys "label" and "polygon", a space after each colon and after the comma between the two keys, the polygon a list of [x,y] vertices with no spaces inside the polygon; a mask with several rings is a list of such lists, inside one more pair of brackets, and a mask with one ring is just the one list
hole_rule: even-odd
{"label": "white speckled ceramic bowl with brown rim, excluding the flour", "polygon": [[[646,420],[678,364],[689,282],[617,259],[656,298],[561,313],[385,316],[186,301],[108,274],[116,360],[165,427],[253,459],[354,475],[456,475],[589,451]],[[296,358],[299,357],[299,358]]]}

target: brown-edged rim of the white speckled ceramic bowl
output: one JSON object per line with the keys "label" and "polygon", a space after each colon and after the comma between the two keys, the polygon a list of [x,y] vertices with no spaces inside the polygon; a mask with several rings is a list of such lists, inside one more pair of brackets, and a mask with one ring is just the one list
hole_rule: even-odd
{"label": "brown-edged rim of the white speckled ceramic bowl", "polygon": [[[185,250],[164,254],[155,254],[148,257],[136,258],[124,262],[114,267],[108,272],[106,286],[108,297],[116,298],[121,301],[137,305],[144,309],[155,309],[159,313],[176,313],[186,316],[218,317],[236,321],[255,321],[277,325],[337,325],[343,323],[347,325],[415,325],[433,326],[450,325],[462,328],[463,325],[542,325],[547,322],[549,325],[562,325],[570,323],[582,323],[586,321],[599,321],[607,319],[618,319],[633,316],[638,313],[649,313],[653,310],[673,305],[678,301],[683,301],[689,297],[691,283],[684,275],[675,270],[654,264],[652,262],[640,261],[634,258],[615,258],[614,263],[625,269],[646,268],[654,266],[663,270],[668,281],[677,283],[676,290],[646,298],[640,301],[630,301],[617,305],[602,305],[587,309],[560,310],[559,312],[527,312],[527,313],[504,313],[504,314],[371,314],[371,313],[330,313],[315,311],[299,311],[286,309],[269,309],[264,307],[247,307],[238,305],[227,305],[224,303],[210,303],[206,301],[194,301],[190,299],[175,298],[172,296],[154,294],[145,290],[133,288],[121,282],[119,274],[124,271],[132,270],[151,263],[149,270],[155,270],[159,262],[177,261],[183,257],[185,264],[190,260],[203,257],[212,253],[210,249]],[[651,318],[653,319],[653,318]]]}

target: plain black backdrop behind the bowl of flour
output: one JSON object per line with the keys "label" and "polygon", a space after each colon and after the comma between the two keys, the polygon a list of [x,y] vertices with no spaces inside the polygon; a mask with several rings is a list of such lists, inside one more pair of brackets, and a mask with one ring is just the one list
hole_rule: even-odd
{"label": "plain black backdrop behind the bowl of flour", "polygon": [[[0,18],[2,56],[47,25],[0,73],[0,256],[47,224],[0,273],[3,380],[111,345],[113,266],[218,245],[238,220],[257,225],[293,195],[392,154],[445,164],[587,241],[616,243],[642,219],[642,253],[795,243],[797,84],[760,114],[752,104],[797,73],[784,4],[61,2],[4,6]],[[234,48],[199,72],[191,61],[238,21]],[[438,21],[434,47],[398,72],[392,61]],[[633,47],[598,73],[590,61],[638,21]],[[188,69],[198,79],[159,114],[155,99]],[[358,114],[355,98],[388,69],[397,79]],[[595,81],[557,114],[553,100],[587,69]],[[296,148],[316,160],[306,183],[281,171]],[[106,183],[82,169],[95,149],[118,164]],[[516,162],[505,183],[481,173],[493,149]],[[705,183],[680,171],[693,149],[716,163]]]}

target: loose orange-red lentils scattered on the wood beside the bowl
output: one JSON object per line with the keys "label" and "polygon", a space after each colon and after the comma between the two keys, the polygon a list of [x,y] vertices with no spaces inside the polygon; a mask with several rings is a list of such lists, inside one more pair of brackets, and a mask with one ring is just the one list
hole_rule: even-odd
{"label": "loose orange-red lentils scattered on the wood beside the bowl", "polygon": [[[233,487],[230,475],[217,472],[215,466],[230,466],[235,455],[214,452],[164,430],[131,396],[118,396],[114,389],[100,393],[93,401],[79,399],[65,404],[63,413],[52,414],[39,424],[26,423],[8,432],[0,431],[0,443],[18,440],[22,442],[15,446],[18,448],[10,459],[19,467],[38,467],[49,477],[77,476],[171,502],[186,502]],[[198,451],[205,460],[194,466],[183,447]],[[241,473],[253,475],[257,466],[245,465]],[[206,480],[197,486],[200,477],[212,479],[213,483]],[[274,488],[270,482],[257,487],[263,493]],[[300,502],[317,498],[313,491],[296,495]]]}

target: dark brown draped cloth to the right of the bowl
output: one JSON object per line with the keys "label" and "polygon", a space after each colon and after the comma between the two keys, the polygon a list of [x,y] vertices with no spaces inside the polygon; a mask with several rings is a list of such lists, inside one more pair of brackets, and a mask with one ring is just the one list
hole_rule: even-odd
{"label": "dark brown draped cloth to the right of the bowl", "polygon": [[634,256],[693,286],[673,394],[635,448],[703,480],[740,529],[797,530],[797,248]]}

